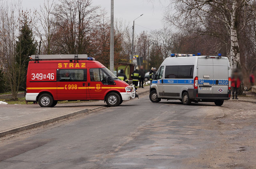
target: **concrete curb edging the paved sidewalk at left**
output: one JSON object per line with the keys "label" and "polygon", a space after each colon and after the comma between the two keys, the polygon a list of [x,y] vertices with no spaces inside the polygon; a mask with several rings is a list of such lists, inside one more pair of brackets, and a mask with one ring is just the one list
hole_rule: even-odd
{"label": "concrete curb edging the paved sidewalk at left", "polygon": [[41,120],[39,122],[34,122],[34,123],[19,126],[19,127],[16,127],[16,128],[4,130],[4,131],[1,131],[0,137],[5,136],[7,134],[13,134],[13,133],[17,133],[17,132],[20,132],[20,131],[23,131],[23,130],[32,129],[32,128],[35,128],[35,127],[38,127],[38,126],[41,126],[41,125],[45,125],[45,124],[48,124],[48,123],[55,122],[55,121],[60,120],[60,119],[64,119],[64,118],[67,118],[67,117],[70,117],[70,116],[75,116],[77,114],[82,114],[82,113],[87,113],[87,112],[89,112],[88,109],[83,109],[83,110],[80,110],[80,111],[67,113],[67,114],[64,114],[62,116],[49,118],[49,119],[46,119],[46,120]]}

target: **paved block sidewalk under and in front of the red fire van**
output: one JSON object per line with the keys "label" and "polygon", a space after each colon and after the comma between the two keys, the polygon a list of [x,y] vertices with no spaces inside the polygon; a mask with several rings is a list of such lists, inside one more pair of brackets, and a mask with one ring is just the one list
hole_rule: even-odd
{"label": "paved block sidewalk under and in front of the red fire van", "polygon": [[[138,95],[148,91],[149,86],[138,88]],[[104,101],[63,103],[49,108],[39,105],[0,105],[0,137],[105,106]]]}

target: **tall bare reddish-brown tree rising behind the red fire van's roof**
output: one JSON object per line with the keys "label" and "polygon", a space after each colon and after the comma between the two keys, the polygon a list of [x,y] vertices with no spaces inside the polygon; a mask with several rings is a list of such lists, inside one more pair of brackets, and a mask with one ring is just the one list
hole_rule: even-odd
{"label": "tall bare reddish-brown tree rising behind the red fire van's roof", "polygon": [[90,33],[98,17],[99,6],[92,6],[91,0],[60,0],[56,7],[58,32],[55,40],[60,53],[90,53]]}

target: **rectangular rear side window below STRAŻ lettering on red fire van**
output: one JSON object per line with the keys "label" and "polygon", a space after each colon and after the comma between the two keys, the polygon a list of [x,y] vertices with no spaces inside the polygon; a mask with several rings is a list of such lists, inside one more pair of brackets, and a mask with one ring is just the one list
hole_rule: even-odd
{"label": "rectangular rear side window below STRA\u017b lettering on red fire van", "polygon": [[84,69],[60,69],[59,81],[86,81],[86,70]]}

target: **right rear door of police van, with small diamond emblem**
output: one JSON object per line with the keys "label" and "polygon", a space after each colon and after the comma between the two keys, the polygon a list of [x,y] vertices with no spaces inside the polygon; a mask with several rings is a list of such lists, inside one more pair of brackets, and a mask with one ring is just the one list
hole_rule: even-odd
{"label": "right rear door of police van, with small diamond emblem", "polygon": [[227,97],[228,94],[228,59],[213,59],[213,95],[214,97]]}

